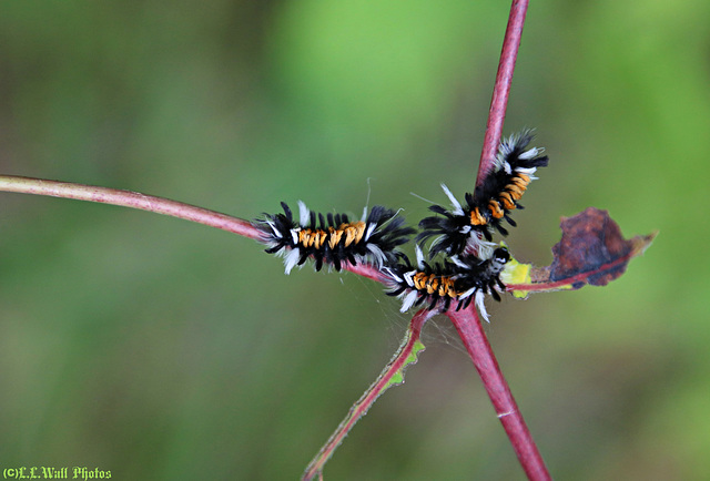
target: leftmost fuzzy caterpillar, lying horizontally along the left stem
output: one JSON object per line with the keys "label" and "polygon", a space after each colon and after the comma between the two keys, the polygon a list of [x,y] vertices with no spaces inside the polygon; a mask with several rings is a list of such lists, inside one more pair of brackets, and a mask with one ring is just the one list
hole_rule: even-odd
{"label": "leftmost fuzzy caterpillar, lying horizontally along the left stem", "polygon": [[396,212],[374,206],[369,214],[363,211],[361,221],[351,222],[346,214],[316,214],[298,201],[298,222],[285,202],[283,214],[264,214],[252,223],[262,232],[261,242],[267,245],[268,254],[284,256],[286,274],[295,266],[313,258],[315,269],[327,264],[341,270],[345,262],[373,264],[382,268],[403,255],[398,246],[409,240],[415,233],[404,227],[404,218]]}

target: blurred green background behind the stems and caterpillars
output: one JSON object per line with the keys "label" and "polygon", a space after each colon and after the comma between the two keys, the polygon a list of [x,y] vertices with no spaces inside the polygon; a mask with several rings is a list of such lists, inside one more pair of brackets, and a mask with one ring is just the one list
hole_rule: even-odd
{"label": "blurred green background behind the stems and caterpillars", "polygon": [[[473,187],[506,1],[0,4],[0,172],[252,218],[303,199],[416,222]],[[551,162],[508,238],[560,216],[659,229],[606,288],[505,299],[487,331],[556,479],[710,475],[710,3],[535,1],[506,134]],[[0,194],[0,464],[114,479],[297,478],[408,316],[252,240]],[[326,465],[336,480],[524,475],[446,319]]]}

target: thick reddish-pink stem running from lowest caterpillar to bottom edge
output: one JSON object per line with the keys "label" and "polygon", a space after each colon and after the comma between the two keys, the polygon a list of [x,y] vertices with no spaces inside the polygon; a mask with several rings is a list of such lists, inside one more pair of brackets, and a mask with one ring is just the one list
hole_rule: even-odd
{"label": "thick reddish-pink stem running from lowest caterpillar to bottom edge", "polygon": [[466,346],[466,350],[478,370],[496,415],[498,415],[528,479],[531,481],[550,480],[542,457],[535,446],[510,388],[500,372],[498,361],[490,349],[476,309],[470,307],[459,311],[449,311],[447,316],[464,340],[464,346]]}

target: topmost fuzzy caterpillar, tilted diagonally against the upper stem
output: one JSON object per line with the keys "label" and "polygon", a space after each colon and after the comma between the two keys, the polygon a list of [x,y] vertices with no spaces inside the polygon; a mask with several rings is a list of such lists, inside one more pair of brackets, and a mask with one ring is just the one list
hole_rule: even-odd
{"label": "topmost fuzzy caterpillar, tilted diagonally against the upper stem", "polygon": [[430,256],[439,252],[460,254],[469,243],[480,244],[481,237],[490,242],[494,229],[508,235],[501,225],[503,221],[516,226],[509,213],[524,208],[518,201],[530,182],[537,178],[534,176],[537,168],[548,163],[547,155],[540,155],[544,149],[527,149],[532,137],[532,131],[524,130],[504,140],[498,147],[493,171],[473,194],[466,193],[464,205],[442,184],[454,208],[448,211],[440,205],[430,206],[432,212],[442,216],[423,218],[419,222],[422,233],[416,237],[423,244],[429,237],[438,236],[429,247]]}

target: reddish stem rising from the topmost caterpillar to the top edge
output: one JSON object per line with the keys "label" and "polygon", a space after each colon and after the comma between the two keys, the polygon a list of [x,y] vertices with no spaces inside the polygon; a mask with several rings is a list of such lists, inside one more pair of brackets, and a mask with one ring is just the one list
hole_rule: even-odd
{"label": "reddish stem rising from the topmost caterpillar to the top edge", "polygon": [[508,27],[505,39],[503,40],[503,51],[500,52],[496,84],[493,89],[484,147],[480,153],[480,163],[478,164],[477,186],[480,185],[483,180],[486,178],[486,174],[493,168],[496,153],[498,152],[498,144],[503,135],[503,123],[506,120],[506,108],[508,105],[508,93],[510,92],[510,84],[513,82],[513,71],[515,70],[515,62],[518,58],[518,49],[520,47],[523,25],[525,24],[527,11],[528,0],[513,0],[510,16],[508,17]]}

